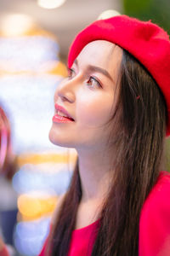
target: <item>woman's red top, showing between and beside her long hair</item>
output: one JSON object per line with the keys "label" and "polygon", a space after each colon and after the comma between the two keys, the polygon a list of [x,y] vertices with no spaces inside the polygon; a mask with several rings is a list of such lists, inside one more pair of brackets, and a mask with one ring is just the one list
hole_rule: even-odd
{"label": "woman's red top, showing between and beside her long hair", "polygon": [[[139,256],[170,256],[170,174],[161,172],[144,202],[139,221]],[[73,230],[68,256],[90,256],[99,220]],[[39,256],[45,256],[45,246]]]}

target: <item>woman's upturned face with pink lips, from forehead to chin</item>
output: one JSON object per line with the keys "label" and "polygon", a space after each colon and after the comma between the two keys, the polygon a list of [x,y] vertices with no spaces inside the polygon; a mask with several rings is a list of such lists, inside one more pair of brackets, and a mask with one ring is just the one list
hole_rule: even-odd
{"label": "woman's upturned face with pink lips, from forehead to chin", "polygon": [[[88,150],[105,145],[121,61],[122,49],[108,41],[97,40],[82,49],[54,95],[52,143]],[[60,117],[60,107],[74,120]]]}

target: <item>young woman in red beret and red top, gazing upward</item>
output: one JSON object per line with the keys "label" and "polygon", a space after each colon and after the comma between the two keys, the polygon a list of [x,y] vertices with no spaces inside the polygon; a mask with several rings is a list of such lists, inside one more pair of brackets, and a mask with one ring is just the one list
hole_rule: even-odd
{"label": "young woman in red beret and red top, gazing upward", "polygon": [[120,15],[77,35],[49,132],[77,165],[41,256],[170,255],[169,70],[169,38],[150,21]]}

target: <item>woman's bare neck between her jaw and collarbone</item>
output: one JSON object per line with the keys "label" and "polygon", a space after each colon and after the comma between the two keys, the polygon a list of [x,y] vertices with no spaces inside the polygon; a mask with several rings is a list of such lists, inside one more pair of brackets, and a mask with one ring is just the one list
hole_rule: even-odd
{"label": "woman's bare neck between her jaw and collarbone", "polygon": [[111,183],[111,158],[104,151],[78,152],[82,202],[103,201]]}

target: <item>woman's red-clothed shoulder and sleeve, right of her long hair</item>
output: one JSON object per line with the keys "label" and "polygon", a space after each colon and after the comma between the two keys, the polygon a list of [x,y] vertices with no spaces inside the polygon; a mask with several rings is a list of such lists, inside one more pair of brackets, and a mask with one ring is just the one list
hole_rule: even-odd
{"label": "woman's red-clothed shoulder and sleeve, right of her long hair", "polygon": [[142,207],[139,256],[170,255],[170,174],[161,172]]}

